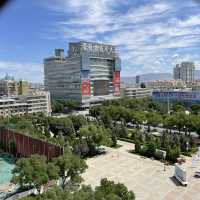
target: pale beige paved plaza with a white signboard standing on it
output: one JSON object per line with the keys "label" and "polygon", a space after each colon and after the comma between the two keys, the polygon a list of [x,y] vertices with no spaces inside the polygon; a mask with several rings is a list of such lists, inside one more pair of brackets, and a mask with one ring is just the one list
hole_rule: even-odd
{"label": "pale beige paved plaza with a white signboard standing on it", "polygon": [[163,163],[129,153],[133,144],[119,143],[122,147],[106,147],[105,155],[87,160],[88,169],[83,174],[85,184],[95,187],[106,177],[124,183],[134,191],[136,200],[200,200],[200,178],[194,177],[194,172],[200,169],[200,161],[194,164],[192,158],[187,158],[185,168],[189,183],[184,187],[172,178],[173,166],[167,166],[164,171]]}

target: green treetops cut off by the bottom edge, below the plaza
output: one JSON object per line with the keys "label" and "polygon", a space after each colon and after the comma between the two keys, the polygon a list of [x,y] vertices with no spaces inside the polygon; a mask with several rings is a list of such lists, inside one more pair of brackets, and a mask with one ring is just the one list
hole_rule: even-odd
{"label": "green treetops cut off by the bottom edge, below the plaza", "polygon": [[101,180],[101,185],[95,190],[91,186],[82,185],[77,190],[54,187],[42,195],[24,197],[21,200],[134,200],[133,192],[128,191],[121,183],[115,184],[107,179]]}

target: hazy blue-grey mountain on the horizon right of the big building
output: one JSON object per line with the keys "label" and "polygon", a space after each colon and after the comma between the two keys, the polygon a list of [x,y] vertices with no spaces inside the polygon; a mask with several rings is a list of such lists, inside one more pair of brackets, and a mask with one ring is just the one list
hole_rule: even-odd
{"label": "hazy blue-grey mountain on the horizon right of the big building", "polygon": [[[155,81],[155,80],[171,80],[173,78],[171,73],[148,73],[140,75],[140,82]],[[125,84],[135,84],[135,76],[122,77]]]}

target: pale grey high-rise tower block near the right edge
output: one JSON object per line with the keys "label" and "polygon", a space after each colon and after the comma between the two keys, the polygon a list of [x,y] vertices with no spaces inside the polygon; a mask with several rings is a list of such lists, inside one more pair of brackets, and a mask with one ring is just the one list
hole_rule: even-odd
{"label": "pale grey high-rise tower block near the right edge", "polygon": [[193,62],[182,62],[174,68],[174,79],[180,79],[186,83],[194,82],[195,66]]}

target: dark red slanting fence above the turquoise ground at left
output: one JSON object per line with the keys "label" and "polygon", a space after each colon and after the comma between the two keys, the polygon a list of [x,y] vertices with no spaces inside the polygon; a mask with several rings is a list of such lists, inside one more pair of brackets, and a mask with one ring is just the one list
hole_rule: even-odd
{"label": "dark red slanting fence above the turquoise ground at left", "polygon": [[[40,139],[35,139],[9,129],[0,129],[0,144],[4,151],[18,156],[44,155],[47,159],[63,155],[64,149]],[[14,145],[14,147],[13,147]],[[13,152],[13,148],[15,152]]]}

